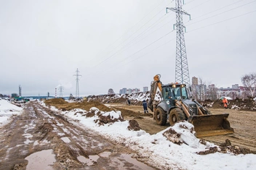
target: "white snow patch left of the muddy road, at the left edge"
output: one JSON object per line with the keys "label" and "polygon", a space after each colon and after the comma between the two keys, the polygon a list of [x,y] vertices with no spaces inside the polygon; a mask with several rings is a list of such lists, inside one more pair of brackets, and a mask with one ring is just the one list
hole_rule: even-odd
{"label": "white snow patch left of the muddy road, at the left edge", "polygon": [[23,111],[23,108],[13,105],[4,99],[0,98],[0,127],[7,124],[9,117],[12,115],[18,115]]}

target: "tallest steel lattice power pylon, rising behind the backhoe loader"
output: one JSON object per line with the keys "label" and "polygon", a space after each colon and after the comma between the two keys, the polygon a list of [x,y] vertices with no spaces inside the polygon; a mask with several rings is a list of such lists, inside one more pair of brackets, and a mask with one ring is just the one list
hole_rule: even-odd
{"label": "tallest steel lattice power pylon, rising behind the backhoe loader", "polygon": [[[184,0],[183,0],[183,3],[184,3]],[[185,50],[185,38],[184,38],[185,26],[183,25],[183,14],[187,14],[189,17],[191,17],[191,15],[183,11],[181,0],[175,0],[175,8],[167,7],[167,9],[173,12],[176,12],[176,24],[173,25],[174,29],[176,26],[176,30],[177,30],[175,81],[181,82],[190,86],[191,83],[190,83],[189,72],[188,72],[188,59],[187,59],[187,54]]]}

